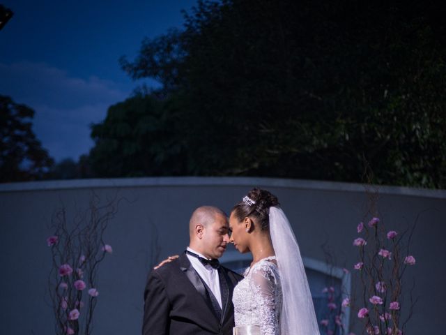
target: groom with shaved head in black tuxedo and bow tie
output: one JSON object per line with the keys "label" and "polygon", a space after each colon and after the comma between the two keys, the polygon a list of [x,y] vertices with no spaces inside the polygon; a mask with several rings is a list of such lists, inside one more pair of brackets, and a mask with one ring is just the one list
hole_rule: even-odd
{"label": "groom with shaved head in black tuxedo and bow tie", "polygon": [[143,335],[232,334],[232,292],[243,277],[218,263],[228,233],[228,218],[220,209],[194,211],[185,253],[148,276]]}

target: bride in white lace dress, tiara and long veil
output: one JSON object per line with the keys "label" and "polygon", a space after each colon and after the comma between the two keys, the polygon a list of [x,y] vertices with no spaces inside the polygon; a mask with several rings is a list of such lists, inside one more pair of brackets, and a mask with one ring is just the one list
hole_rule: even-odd
{"label": "bride in white lace dress, tiara and long veil", "polygon": [[254,188],[231,211],[231,242],[253,261],[233,292],[234,335],[318,335],[307,276],[275,195]]}

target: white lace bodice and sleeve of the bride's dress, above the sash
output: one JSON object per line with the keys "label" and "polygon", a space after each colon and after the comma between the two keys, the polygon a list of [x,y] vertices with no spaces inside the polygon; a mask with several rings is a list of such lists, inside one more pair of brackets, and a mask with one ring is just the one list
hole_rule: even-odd
{"label": "white lace bodice and sleeve of the bride's dress, above the sash", "polygon": [[247,268],[233,291],[236,326],[259,325],[261,335],[279,335],[282,288],[275,256]]}

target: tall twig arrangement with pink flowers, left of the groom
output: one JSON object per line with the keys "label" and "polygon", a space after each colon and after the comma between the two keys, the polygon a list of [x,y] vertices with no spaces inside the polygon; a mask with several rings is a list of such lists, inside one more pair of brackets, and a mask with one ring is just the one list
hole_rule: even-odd
{"label": "tall twig arrangement with pink flowers, left of the groom", "polygon": [[113,252],[103,235],[117,207],[114,200],[102,207],[98,204],[93,196],[89,209],[75,216],[71,224],[65,209],[52,220],[53,234],[47,238],[52,253],[48,283],[58,335],[89,335],[93,329],[98,265]]}

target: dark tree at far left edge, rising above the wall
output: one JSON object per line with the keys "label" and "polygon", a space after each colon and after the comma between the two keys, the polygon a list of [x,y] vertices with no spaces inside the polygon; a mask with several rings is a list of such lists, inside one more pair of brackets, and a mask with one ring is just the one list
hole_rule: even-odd
{"label": "dark tree at far left edge, rising above the wall", "polygon": [[34,111],[0,95],[0,182],[42,179],[53,165],[32,130]]}

